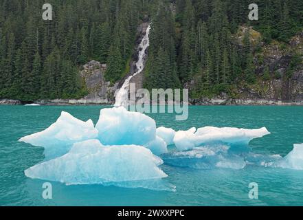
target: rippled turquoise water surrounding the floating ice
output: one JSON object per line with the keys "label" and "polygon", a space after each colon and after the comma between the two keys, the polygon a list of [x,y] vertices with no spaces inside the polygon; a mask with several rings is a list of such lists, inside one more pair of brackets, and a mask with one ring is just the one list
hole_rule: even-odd
{"label": "rippled turquoise water surrounding the floating ice", "polygon": [[[0,205],[4,206],[302,206],[303,170],[246,166],[240,170],[197,170],[164,164],[167,181],[176,192],[114,186],[65,186],[52,183],[53,199],[42,197],[45,181],[23,171],[43,161],[43,148],[17,142],[46,129],[61,111],[97,122],[102,107],[0,106]],[[176,130],[192,126],[266,126],[271,132],[251,142],[254,153],[280,154],[303,143],[303,107],[190,107],[186,122],[173,114],[149,114],[157,126]],[[259,198],[248,197],[250,182],[258,183]]]}

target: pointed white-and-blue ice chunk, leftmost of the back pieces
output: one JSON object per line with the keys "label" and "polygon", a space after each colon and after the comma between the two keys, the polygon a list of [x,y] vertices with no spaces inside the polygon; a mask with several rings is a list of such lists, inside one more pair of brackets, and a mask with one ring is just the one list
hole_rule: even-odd
{"label": "pointed white-and-blue ice chunk, leftmost of the back pieces", "polygon": [[22,137],[19,141],[45,148],[46,159],[64,155],[76,142],[96,138],[93,122],[83,122],[63,111],[58,120],[44,131]]}

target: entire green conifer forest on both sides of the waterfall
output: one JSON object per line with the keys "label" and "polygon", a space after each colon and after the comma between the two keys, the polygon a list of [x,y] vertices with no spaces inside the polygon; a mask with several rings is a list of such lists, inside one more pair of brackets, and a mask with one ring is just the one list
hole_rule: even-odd
{"label": "entire green conifer forest on both sides of the waterfall", "polygon": [[[256,0],[258,21],[248,19],[248,0],[49,0],[52,21],[42,19],[43,0],[0,0],[0,98],[25,101],[82,98],[79,69],[106,63],[106,80],[128,74],[140,23],[152,23],[144,87],[183,88],[190,96],[230,93],[258,83],[255,55],[265,45],[287,44],[303,30],[303,1]],[[240,27],[252,27],[254,44]],[[247,28],[249,30],[249,28]],[[294,56],[288,76],[301,56]],[[262,80],[278,77],[265,68]]]}

